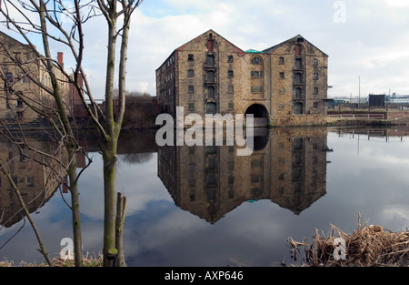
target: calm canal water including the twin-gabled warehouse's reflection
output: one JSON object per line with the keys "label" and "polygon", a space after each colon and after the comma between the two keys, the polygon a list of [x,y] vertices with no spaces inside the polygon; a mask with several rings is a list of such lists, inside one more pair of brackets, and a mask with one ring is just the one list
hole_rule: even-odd
{"label": "calm canal water including the twin-gabled warehouse's reflection", "polygon": [[[159,148],[155,132],[126,133],[116,178],[129,199],[126,264],[280,266],[292,262],[288,237],[312,242],[315,229],[327,234],[331,224],[352,233],[358,213],[368,224],[407,229],[408,134],[408,128],[274,128],[254,137],[252,156],[238,157],[239,147]],[[89,149],[93,163],[80,179],[83,243],[84,252],[98,254],[102,158]],[[53,257],[60,240],[72,237],[62,196],[69,199],[57,191],[33,213]],[[28,221],[23,225],[24,219],[0,229],[0,260],[44,260]]]}

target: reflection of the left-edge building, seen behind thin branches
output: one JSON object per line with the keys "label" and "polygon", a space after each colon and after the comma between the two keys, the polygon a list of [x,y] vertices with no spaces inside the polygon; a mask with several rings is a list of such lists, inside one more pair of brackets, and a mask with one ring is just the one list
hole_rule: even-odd
{"label": "reflection of the left-edge building, seen behind thin branches", "polygon": [[[46,153],[55,153],[55,146],[45,137],[25,137],[27,143]],[[65,170],[54,159],[13,143],[0,141],[0,161],[6,165],[30,213],[35,212],[53,197],[65,179]],[[35,161],[36,160],[36,161]],[[25,218],[25,212],[5,174],[0,172],[0,229]]]}

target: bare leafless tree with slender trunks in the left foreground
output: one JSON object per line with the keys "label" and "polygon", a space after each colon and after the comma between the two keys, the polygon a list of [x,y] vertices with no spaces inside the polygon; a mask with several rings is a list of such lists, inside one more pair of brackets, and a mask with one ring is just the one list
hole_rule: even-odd
{"label": "bare leafless tree with slender trunks in the left foreground", "polygon": [[[64,81],[75,87],[81,98],[83,107],[95,124],[101,137],[101,150],[104,159],[104,192],[105,192],[105,216],[104,216],[104,265],[108,265],[107,253],[109,249],[115,249],[115,169],[116,149],[118,137],[121,131],[125,113],[125,70],[131,15],[143,0],[73,0],[74,7],[68,9],[62,0],[0,0],[0,11],[4,16],[7,27],[14,29],[25,38],[28,46],[35,53],[35,61],[45,69],[49,76],[51,86],[45,86],[36,76],[25,70],[27,60],[23,62],[18,56],[10,55],[11,62],[20,66],[22,73],[29,76],[36,86],[40,87],[45,94],[52,98],[54,108],[45,106],[44,102],[33,104],[31,97],[23,92],[8,86],[7,92],[18,97],[32,110],[43,117],[47,117],[50,124],[55,127],[65,149],[70,164],[67,168],[69,177],[69,189],[72,197],[73,209],[73,232],[75,244],[75,265],[82,264],[82,241],[80,227],[80,210],[76,175],[76,152],[78,146],[75,141],[75,130],[70,122],[69,108],[65,105],[65,98],[61,90]],[[18,17],[15,15],[18,14]],[[72,21],[70,28],[63,26],[61,16]],[[103,15],[107,24],[108,44],[106,57],[105,76],[105,109],[96,104],[91,92],[91,87],[86,79],[83,63],[85,50],[84,25],[96,15]],[[16,19],[18,18],[18,20]],[[37,20],[33,20],[36,18]],[[44,55],[40,53],[33,42],[34,36],[41,36]],[[117,42],[120,44],[119,59],[115,59]],[[73,76],[69,75],[63,66],[56,62],[50,51],[53,43],[63,44],[70,50],[75,60]],[[32,59],[33,60],[33,59]],[[118,72],[115,66],[118,64]],[[61,76],[61,74],[63,76]],[[114,114],[114,79],[117,74],[117,89],[119,109]],[[84,79],[84,85],[80,83],[80,77]],[[50,110],[54,111],[55,117],[50,117]]]}

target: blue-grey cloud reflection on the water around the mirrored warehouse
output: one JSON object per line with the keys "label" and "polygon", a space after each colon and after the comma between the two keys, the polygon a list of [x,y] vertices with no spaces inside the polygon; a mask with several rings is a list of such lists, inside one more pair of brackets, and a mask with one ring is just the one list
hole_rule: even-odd
{"label": "blue-grey cloud reflection on the water around the mirrored warehouse", "polygon": [[[128,266],[224,266],[228,259],[253,266],[289,262],[285,240],[312,241],[315,229],[327,234],[330,224],[351,233],[357,215],[364,222],[391,230],[409,225],[409,156],[407,138],[371,137],[329,133],[326,194],[299,215],[270,200],[244,202],[213,225],[175,206],[157,177],[157,154],[133,160],[120,156],[118,191],[129,198],[125,219],[125,259]],[[102,158],[80,180],[84,251],[98,253],[102,247]],[[136,158],[137,159],[137,158]],[[130,163],[132,161],[142,161]],[[145,162],[144,162],[145,161]],[[69,199],[68,194],[64,194]],[[52,256],[59,242],[71,237],[71,213],[59,193],[33,215]],[[22,222],[0,231],[0,244]],[[36,251],[35,235],[28,225],[3,249],[3,260],[43,261]]]}

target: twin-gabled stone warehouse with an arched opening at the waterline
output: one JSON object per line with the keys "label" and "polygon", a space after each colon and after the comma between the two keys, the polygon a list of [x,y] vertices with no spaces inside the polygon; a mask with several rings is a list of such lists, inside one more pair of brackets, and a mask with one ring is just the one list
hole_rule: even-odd
{"label": "twin-gabled stone warehouse with an arched opening at the waterline", "polygon": [[213,30],[175,49],[156,69],[162,111],[185,115],[254,114],[261,125],[324,116],[327,59],[302,36],[264,51],[243,51]]}

